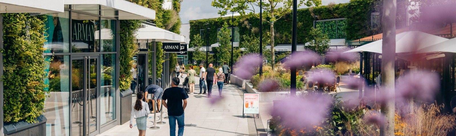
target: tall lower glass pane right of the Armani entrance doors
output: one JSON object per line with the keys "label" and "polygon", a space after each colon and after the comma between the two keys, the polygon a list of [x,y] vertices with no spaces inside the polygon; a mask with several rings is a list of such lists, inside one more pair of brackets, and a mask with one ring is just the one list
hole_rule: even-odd
{"label": "tall lower glass pane right of the Armani entrance doors", "polygon": [[102,54],[100,76],[100,124],[104,125],[116,117],[116,55]]}

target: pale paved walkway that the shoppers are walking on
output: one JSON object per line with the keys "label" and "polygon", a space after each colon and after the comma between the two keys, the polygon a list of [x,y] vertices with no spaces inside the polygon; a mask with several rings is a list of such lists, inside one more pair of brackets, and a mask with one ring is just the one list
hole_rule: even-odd
{"label": "pale paved walkway that the shoppers are walking on", "polygon": [[[180,79],[181,86],[183,78]],[[196,80],[198,81],[199,78]],[[195,85],[195,92],[199,92],[199,83]],[[217,85],[213,86],[212,93],[218,96]],[[207,98],[207,95],[189,94],[185,110],[184,136],[265,136],[261,118],[254,119],[251,117],[252,114],[242,117],[243,95],[244,92],[235,85],[223,86],[223,97],[212,97],[213,103],[210,101],[212,98]],[[133,97],[135,100],[136,96]],[[163,117],[167,116],[166,108],[163,107]],[[160,113],[157,113],[157,122],[160,119]],[[153,126],[153,121],[154,114],[149,114],[147,126]],[[163,121],[166,124],[156,124],[160,129],[147,129],[146,136],[169,136],[169,121],[168,119]],[[136,122],[133,121],[133,128],[129,127],[130,122],[114,126],[99,136],[135,136],[138,135],[135,124]]]}

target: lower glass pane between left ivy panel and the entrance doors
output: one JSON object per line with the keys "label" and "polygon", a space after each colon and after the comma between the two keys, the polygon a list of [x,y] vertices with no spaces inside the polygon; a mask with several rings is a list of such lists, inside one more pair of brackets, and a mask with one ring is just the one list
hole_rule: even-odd
{"label": "lower glass pane between left ivy panel and the entrance doors", "polygon": [[[45,90],[49,90],[50,97],[46,97],[46,106],[43,114],[47,118],[47,136],[69,136],[70,134],[70,109],[69,84],[70,84],[70,57],[69,55],[53,56],[51,63],[47,65],[46,71],[49,73],[45,78],[45,83],[49,84]],[[52,56],[46,56],[50,60]]]}

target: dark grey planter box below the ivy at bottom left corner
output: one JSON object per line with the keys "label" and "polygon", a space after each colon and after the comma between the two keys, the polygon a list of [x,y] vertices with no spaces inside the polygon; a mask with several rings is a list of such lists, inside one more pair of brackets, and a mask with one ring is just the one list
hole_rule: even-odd
{"label": "dark grey planter box below the ivy at bottom left corner", "polygon": [[25,120],[18,122],[5,122],[3,130],[5,136],[46,136],[47,118],[41,115],[35,119],[36,123],[29,123]]}

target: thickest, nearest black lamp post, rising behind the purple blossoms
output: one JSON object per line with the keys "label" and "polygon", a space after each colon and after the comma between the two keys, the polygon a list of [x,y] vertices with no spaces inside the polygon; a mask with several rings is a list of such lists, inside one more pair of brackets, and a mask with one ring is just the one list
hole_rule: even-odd
{"label": "thickest, nearest black lamp post, rising behind the purple blossoms", "polygon": [[[297,30],[297,0],[293,0],[293,27],[291,30],[291,55],[296,55],[296,30]],[[272,45],[271,45],[272,46]],[[292,60],[293,61],[293,60]],[[291,84],[290,96],[296,95],[296,67],[292,66],[291,70]]]}

